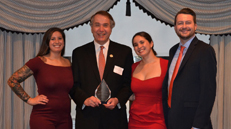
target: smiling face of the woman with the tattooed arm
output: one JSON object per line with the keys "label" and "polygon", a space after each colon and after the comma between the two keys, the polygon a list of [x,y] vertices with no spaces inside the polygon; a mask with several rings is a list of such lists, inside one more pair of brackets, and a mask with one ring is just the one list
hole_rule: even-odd
{"label": "smiling face of the woman with the tattooed arm", "polygon": [[50,52],[61,53],[64,48],[64,39],[59,31],[55,31],[49,42]]}

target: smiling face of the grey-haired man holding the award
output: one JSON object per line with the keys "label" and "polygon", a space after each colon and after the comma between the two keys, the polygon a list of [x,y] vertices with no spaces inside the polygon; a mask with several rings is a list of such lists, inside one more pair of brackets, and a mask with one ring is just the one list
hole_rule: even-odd
{"label": "smiling face of the grey-haired man holding the award", "polygon": [[93,18],[91,32],[97,43],[105,44],[111,35],[112,27],[110,19],[106,16],[97,14]]}

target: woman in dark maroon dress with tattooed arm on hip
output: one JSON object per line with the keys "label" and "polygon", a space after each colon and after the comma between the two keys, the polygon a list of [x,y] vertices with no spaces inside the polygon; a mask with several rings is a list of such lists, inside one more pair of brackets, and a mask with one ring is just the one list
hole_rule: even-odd
{"label": "woman in dark maroon dress with tattooed arm on hip", "polygon": [[[72,129],[69,91],[73,86],[71,63],[63,57],[65,34],[60,28],[46,31],[38,55],[29,60],[8,80],[24,102],[33,106],[30,129]],[[30,97],[20,85],[33,75],[38,96]]]}

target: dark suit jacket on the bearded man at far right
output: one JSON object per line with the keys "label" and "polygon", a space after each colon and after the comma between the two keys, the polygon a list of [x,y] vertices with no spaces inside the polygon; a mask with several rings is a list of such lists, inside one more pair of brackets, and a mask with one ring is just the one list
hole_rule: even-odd
{"label": "dark suit jacket on the bearded man at far right", "polygon": [[[179,44],[170,49],[168,68]],[[168,72],[163,83],[163,106],[168,129],[212,129],[210,114],[216,95],[214,49],[195,37],[173,83],[171,109],[167,105]]]}

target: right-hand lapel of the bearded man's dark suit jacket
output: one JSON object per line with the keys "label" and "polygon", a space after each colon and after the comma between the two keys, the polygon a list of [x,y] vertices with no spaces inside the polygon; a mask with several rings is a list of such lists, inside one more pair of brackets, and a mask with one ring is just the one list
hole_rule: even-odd
{"label": "right-hand lapel of the bearded man's dark suit jacket", "polygon": [[185,54],[185,56],[184,56],[184,58],[183,58],[183,60],[182,60],[182,63],[181,63],[181,65],[180,65],[180,68],[179,68],[178,73],[181,71],[181,69],[184,67],[184,65],[185,65],[186,62],[188,61],[188,59],[189,59],[189,57],[191,56],[193,50],[195,49],[195,46],[196,46],[197,42],[198,42],[198,39],[197,39],[197,37],[195,37],[195,38],[193,39],[193,41],[191,42],[191,44],[189,45],[189,48],[188,48],[188,50],[187,50],[187,52],[186,52],[186,54]]}

